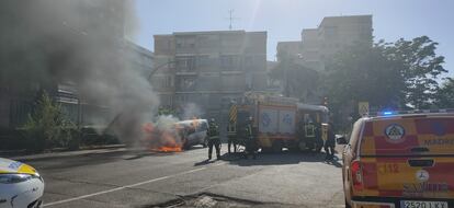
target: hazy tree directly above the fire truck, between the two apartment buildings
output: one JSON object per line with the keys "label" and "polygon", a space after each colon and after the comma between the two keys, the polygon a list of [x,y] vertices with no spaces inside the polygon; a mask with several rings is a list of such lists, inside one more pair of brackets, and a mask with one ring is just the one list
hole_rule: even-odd
{"label": "hazy tree directly above the fire truck, between the two apartment buildings", "polygon": [[270,78],[283,84],[285,96],[297,97],[303,102],[314,100],[319,91],[320,74],[310,68],[295,62],[295,58],[285,53],[277,55],[280,61],[270,71]]}

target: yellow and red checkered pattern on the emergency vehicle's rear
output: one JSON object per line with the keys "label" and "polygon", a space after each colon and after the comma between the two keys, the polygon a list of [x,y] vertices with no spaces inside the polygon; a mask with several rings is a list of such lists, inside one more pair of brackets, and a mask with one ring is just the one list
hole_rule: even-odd
{"label": "yellow and red checkered pattern on the emergency vehicle's rear", "polygon": [[[391,139],[386,129],[398,126]],[[359,155],[364,188],[355,195],[454,198],[454,117],[371,119],[365,123]],[[428,151],[415,153],[415,148]],[[432,166],[411,166],[409,160],[432,160]],[[418,178],[422,172],[427,181]]]}

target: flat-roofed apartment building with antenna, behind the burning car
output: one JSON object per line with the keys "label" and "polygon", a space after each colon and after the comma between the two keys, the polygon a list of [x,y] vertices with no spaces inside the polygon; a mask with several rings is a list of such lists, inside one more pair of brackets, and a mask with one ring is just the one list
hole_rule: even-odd
{"label": "flat-roofed apartment building with antenna, behind the burning car", "polygon": [[195,104],[193,116],[222,118],[230,101],[266,89],[266,32],[155,35],[155,68],[161,105],[184,112]]}

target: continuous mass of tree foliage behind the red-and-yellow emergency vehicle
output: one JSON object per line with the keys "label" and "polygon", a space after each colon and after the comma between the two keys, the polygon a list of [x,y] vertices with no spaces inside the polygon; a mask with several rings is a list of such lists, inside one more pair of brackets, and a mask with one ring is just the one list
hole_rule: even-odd
{"label": "continuous mass of tree foliage behind the red-and-yellow emergency vehicle", "polygon": [[327,62],[324,84],[334,123],[359,117],[361,101],[368,102],[372,111],[452,106],[452,80],[442,88],[438,83],[447,71],[444,57],[435,54],[436,45],[421,36],[381,41],[372,47],[356,45],[336,54]]}

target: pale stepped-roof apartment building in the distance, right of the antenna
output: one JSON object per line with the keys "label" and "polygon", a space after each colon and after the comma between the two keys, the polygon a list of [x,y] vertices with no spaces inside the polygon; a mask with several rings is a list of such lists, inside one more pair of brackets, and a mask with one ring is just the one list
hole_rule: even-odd
{"label": "pale stepped-roof apartment building in the distance, right of the antenna", "polygon": [[[354,44],[373,43],[372,15],[324,18],[317,28],[304,28],[297,42],[281,42],[277,51],[317,71],[325,70],[326,60]],[[279,57],[277,57],[279,60]]]}

